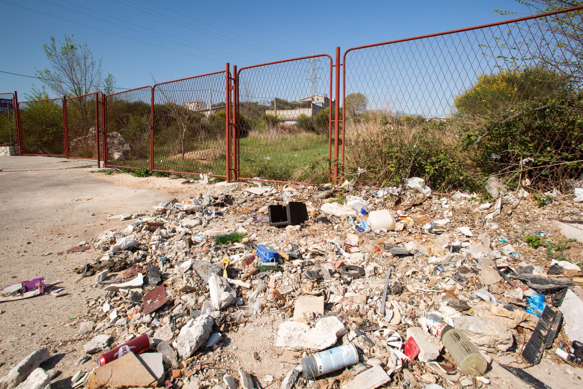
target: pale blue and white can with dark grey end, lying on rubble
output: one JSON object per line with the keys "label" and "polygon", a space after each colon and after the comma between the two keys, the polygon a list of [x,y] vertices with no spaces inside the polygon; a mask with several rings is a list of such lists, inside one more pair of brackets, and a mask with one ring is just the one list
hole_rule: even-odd
{"label": "pale blue and white can with dark grey end, lying on rubble", "polygon": [[356,363],[359,363],[359,353],[352,344],[334,347],[301,359],[305,379],[319,377]]}

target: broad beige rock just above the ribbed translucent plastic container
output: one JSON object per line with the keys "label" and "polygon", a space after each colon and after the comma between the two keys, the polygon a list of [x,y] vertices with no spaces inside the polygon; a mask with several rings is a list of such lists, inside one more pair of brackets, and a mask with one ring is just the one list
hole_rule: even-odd
{"label": "broad beige rock just above the ribbed translucent plastic container", "polygon": [[483,351],[506,351],[512,346],[512,333],[508,331],[504,318],[462,316],[454,318],[454,324]]}

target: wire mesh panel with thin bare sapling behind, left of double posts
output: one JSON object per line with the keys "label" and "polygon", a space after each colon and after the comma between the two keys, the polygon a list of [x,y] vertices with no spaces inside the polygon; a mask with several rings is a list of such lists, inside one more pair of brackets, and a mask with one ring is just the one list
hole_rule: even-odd
{"label": "wire mesh panel with thin bare sapling behind, left of double posts", "polygon": [[226,175],[225,72],[154,85],[154,170]]}

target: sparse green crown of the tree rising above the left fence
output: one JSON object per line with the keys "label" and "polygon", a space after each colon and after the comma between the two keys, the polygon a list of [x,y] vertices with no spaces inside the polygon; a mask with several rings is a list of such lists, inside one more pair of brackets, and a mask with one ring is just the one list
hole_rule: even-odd
{"label": "sparse green crown of the tree rising above the left fence", "polygon": [[43,44],[44,54],[52,69],[37,69],[36,76],[58,96],[80,96],[97,92],[112,93],[115,77],[103,76],[101,58],[95,59],[86,43],[76,44],[73,35],[65,36],[64,43],[57,47],[51,36],[50,44]]}

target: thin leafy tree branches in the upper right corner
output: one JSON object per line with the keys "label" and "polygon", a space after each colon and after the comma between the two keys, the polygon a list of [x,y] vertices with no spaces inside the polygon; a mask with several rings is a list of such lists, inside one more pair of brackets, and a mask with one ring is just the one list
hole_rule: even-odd
{"label": "thin leafy tree branches in the upper right corner", "polygon": [[[582,5],[583,0],[517,0],[528,7],[532,15]],[[500,15],[519,15],[516,12],[494,10]],[[561,76],[568,76],[576,85],[583,82],[583,11],[577,10],[537,19],[538,22],[525,29],[533,34],[525,39],[518,34],[515,41],[505,44],[515,54],[504,57],[511,68],[519,68],[522,62],[532,61],[540,67],[550,69]],[[528,31],[527,31],[528,32]]]}

